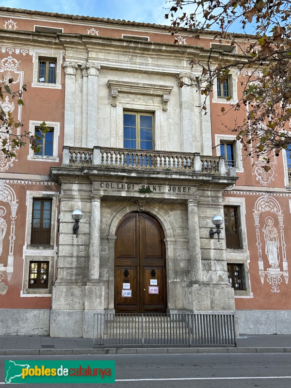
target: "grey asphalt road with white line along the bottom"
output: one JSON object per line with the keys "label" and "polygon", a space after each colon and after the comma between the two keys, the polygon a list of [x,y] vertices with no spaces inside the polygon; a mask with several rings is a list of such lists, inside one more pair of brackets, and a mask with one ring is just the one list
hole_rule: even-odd
{"label": "grey asphalt road with white line along the bottom", "polygon": [[[173,354],[112,356],[0,356],[0,388],[4,360],[115,360],[115,388],[290,388],[291,353]],[[49,388],[51,384],[17,384]],[[97,384],[108,387],[111,384]],[[54,384],[53,387],[92,388],[93,384]]]}

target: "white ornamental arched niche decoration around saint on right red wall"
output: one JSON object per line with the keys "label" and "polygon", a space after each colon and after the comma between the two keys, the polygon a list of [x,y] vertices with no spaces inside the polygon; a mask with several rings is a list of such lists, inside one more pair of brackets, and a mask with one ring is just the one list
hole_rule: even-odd
{"label": "white ornamental arched niche decoration around saint on right red wall", "polygon": [[[269,215],[264,217],[264,212],[274,213],[275,218]],[[257,199],[253,215],[257,234],[258,264],[261,283],[264,284],[265,277],[267,277],[267,282],[271,285],[271,291],[277,293],[280,292],[279,286],[282,283],[282,275],[286,284],[288,284],[289,279],[283,211],[281,210],[278,201],[273,196],[266,193]],[[260,219],[264,224],[262,229],[260,229]],[[279,233],[275,226],[275,220],[278,222]],[[264,265],[262,256],[261,233],[264,236],[264,254],[268,261],[267,266]]]}

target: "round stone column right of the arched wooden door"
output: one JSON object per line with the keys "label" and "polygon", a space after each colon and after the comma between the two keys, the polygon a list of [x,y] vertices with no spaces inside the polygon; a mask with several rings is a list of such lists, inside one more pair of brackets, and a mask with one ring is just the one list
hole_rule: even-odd
{"label": "round stone column right of the arched wooden door", "polygon": [[188,239],[191,282],[201,282],[201,250],[197,202],[188,200]]}

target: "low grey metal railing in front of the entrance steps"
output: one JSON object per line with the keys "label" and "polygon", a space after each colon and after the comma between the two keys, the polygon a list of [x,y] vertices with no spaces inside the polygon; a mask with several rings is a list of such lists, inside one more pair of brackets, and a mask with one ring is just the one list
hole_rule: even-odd
{"label": "low grey metal railing in front of the entrance steps", "polygon": [[93,346],[233,345],[234,313],[94,314]]}

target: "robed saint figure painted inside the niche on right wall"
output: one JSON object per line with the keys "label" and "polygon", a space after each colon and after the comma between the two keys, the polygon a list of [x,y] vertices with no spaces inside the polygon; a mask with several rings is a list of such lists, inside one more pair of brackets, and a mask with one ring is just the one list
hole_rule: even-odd
{"label": "robed saint figure painted inside the niche on right wall", "polygon": [[279,268],[279,236],[272,217],[266,217],[262,231],[265,239],[265,253],[269,260],[269,264],[271,265],[271,268]]}

